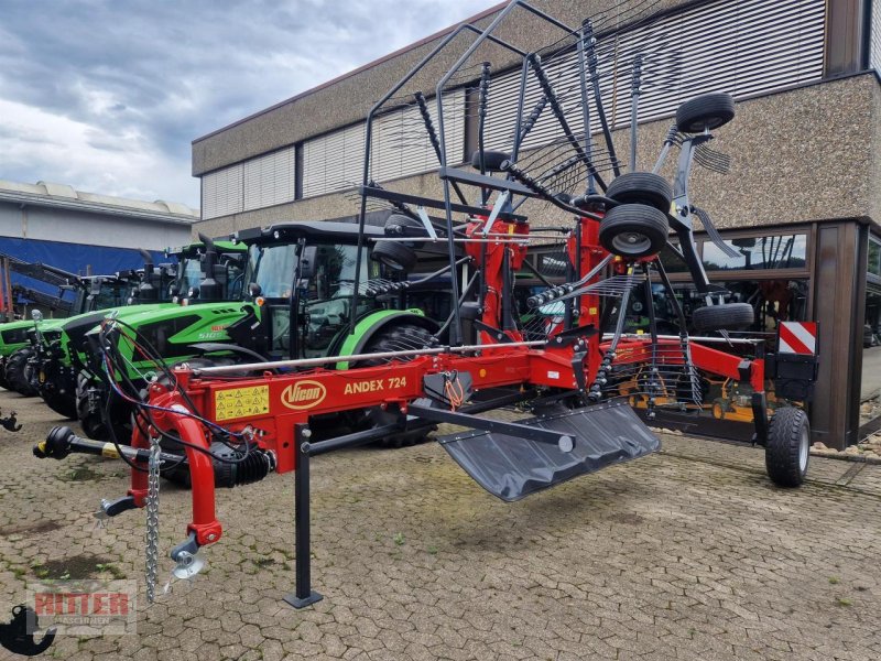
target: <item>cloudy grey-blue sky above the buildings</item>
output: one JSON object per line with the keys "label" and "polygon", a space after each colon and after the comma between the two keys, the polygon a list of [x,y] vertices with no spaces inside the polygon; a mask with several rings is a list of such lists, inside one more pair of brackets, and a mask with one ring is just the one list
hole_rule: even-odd
{"label": "cloudy grey-blue sky above the buildings", "polygon": [[494,0],[0,0],[0,180],[199,204],[191,142]]}

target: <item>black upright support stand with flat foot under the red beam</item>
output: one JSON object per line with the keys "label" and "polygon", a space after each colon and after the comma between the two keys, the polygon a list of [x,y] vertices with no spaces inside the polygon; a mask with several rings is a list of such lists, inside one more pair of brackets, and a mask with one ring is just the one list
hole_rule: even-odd
{"label": "black upright support stand with flat foot under the red beam", "polygon": [[312,589],[309,550],[309,455],[308,440],[312,431],[307,424],[294,425],[296,444],[296,468],[294,469],[294,537],[296,551],[296,585],[294,594],[284,600],[294,608],[305,608],[324,597]]}

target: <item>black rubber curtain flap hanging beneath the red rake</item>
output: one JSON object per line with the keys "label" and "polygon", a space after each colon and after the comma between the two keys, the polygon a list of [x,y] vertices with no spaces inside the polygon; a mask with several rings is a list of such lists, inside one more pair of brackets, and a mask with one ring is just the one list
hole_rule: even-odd
{"label": "black rubber curtain flap hanging beneath the red rake", "polygon": [[477,484],[508,502],[661,447],[661,441],[623,402],[565,409],[565,413],[554,411],[516,422],[568,434],[575,447],[562,452],[548,443],[476,430],[438,438]]}

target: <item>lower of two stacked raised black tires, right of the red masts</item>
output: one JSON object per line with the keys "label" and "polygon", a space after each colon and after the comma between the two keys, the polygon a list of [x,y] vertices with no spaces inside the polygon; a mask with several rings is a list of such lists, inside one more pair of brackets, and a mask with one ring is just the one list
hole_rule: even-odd
{"label": "lower of two stacked raised black tires, right of the red masts", "polygon": [[609,209],[599,225],[599,242],[626,258],[656,254],[667,242],[666,214],[644,204],[622,204]]}

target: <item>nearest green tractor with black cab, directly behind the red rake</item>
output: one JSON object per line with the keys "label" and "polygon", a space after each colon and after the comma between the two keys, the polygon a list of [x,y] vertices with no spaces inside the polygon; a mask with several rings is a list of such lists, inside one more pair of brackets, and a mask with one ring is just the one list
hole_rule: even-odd
{"label": "nearest green tractor with black cab, directly behind the red rake", "polygon": [[[89,402],[84,411],[93,420],[102,413],[117,440],[128,442],[129,400],[149,378],[170,378],[162,373],[166,366],[316,358],[432,343],[439,325],[422,310],[410,308],[406,293],[438,274],[409,281],[406,271],[414,267],[415,252],[402,242],[383,241],[384,237],[382,228],[366,227],[369,258],[356,277],[357,225],[302,221],[236,232],[233,241],[248,251],[240,301],[126,314],[118,317],[112,334],[90,330],[91,386],[83,391]],[[210,286],[203,281],[200,299],[213,296],[205,293]],[[80,415],[84,427],[85,418]],[[388,418],[390,413],[377,409],[346,420],[315,421],[315,426],[366,429],[384,424]],[[387,444],[412,443],[424,435],[425,431],[402,433]]]}

